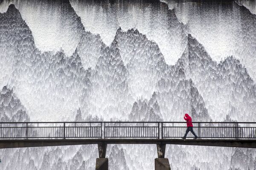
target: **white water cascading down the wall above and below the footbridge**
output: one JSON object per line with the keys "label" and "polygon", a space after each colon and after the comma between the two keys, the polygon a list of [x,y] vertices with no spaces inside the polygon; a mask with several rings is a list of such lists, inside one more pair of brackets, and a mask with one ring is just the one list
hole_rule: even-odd
{"label": "white water cascading down the wall above and below the footbridge", "polygon": [[[0,0],[0,120],[256,121],[255,4]],[[1,170],[93,170],[98,150],[0,156]],[[110,170],[150,170],[156,146],[107,157]],[[169,145],[166,157],[173,170],[256,169],[253,149]]]}

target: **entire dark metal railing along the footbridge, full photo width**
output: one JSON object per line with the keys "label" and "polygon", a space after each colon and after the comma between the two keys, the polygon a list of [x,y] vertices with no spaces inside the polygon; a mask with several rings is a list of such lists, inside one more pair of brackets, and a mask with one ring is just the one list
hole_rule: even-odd
{"label": "entire dark metal railing along the footbridge, full photo width", "polygon": [[[193,126],[199,139],[256,139],[256,122]],[[186,128],[186,122],[0,122],[0,139],[179,139]]]}

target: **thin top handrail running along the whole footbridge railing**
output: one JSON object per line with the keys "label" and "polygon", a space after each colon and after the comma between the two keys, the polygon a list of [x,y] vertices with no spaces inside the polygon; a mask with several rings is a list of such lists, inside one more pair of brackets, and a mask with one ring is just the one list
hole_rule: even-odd
{"label": "thin top handrail running along the whole footbridge railing", "polygon": [[[0,122],[0,124],[26,124],[26,123],[39,123],[39,124],[43,124],[43,123],[186,123],[185,121],[183,122],[136,122],[136,121],[132,121],[132,122],[125,122],[125,121],[114,121],[114,122]],[[248,123],[248,124],[256,124],[256,122],[192,122],[192,123]]]}

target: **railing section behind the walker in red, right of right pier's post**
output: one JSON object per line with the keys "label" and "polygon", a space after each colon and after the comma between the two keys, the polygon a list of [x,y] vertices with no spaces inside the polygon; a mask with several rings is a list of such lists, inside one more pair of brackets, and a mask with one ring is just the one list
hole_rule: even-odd
{"label": "railing section behind the walker in red, right of right pier's post", "polygon": [[[162,138],[181,138],[186,128],[184,122],[162,122]],[[193,130],[199,139],[256,139],[256,122],[193,122]]]}

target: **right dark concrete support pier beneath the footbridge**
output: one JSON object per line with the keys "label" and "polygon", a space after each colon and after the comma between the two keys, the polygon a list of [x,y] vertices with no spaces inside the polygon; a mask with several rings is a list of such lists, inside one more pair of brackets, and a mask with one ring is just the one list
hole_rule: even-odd
{"label": "right dark concrete support pier beneath the footbridge", "polygon": [[164,158],[166,144],[157,144],[157,156],[155,159],[155,170],[171,170],[169,160]]}

